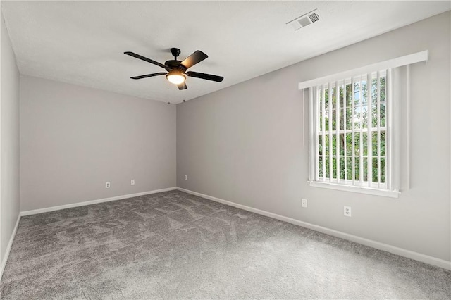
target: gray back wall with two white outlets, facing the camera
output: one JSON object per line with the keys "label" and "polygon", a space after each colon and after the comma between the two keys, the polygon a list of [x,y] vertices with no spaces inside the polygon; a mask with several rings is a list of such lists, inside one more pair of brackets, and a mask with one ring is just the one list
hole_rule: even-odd
{"label": "gray back wall with two white outlets, facing the camera", "polygon": [[21,76],[20,211],[175,187],[175,110]]}

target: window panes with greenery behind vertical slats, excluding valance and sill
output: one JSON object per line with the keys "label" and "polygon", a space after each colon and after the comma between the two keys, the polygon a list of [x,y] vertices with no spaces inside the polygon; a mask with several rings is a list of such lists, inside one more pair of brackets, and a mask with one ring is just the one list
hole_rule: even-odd
{"label": "window panes with greenery behind vertical slats, excluding valance and sill", "polygon": [[316,182],[388,189],[389,72],[313,87]]}

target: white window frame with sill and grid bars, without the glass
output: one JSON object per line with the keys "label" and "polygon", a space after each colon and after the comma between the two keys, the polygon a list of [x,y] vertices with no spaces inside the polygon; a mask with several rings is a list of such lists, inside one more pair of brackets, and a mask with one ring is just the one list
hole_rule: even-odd
{"label": "white window frame with sill and grid bars, without the glass", "polygon": [[[345,77],[342,78],[340,80],[335,80],[333,82],[329,81],[329,82],[323,82],[320,85],[315,85],[314,87],[310,87],[309,88],[309,106],[311,107],[311,110],[313,110],[313,112],[311,112],[311,118],[310,118],[310,127],[313,129],[313,135],[311,135],[311,139],[310,142],[311,144],[313,144],[313,147],[311,147],[311,153],[310,153],[310,180],[309,180],[309,185],[312,187],[324,187],[324,188],[328,188],[328,189],[339,189],[342,191],[347,191],[347,192],[359,192],[359,193],[364,193],[364,194],[376,194],[378,196],[390,196],[390,197],[397,197],[399,195],[399,192],[397,190],[394,189],[390,189],[390,187],[392,187],[392,170],[393,168],[391,168],[391,162],[392,162],[392,158],[391,155],[393,153],[393,149],[392,149],[392,144],[390,142],[390,137],[393,135],[393,133],[391,132],[391,130],[393,129],[393,125],[392,125],[392,114],[393,114],[393,109],[392,109],[392,97],[393,97],[393,93],[392,93],[392,82],[391,82],[391,78],[392,76],[391,74],[391,70],[387,69],[387,70],[378,70],[378,71],[372,71],[369,72],[367,74],[361,74],[361,75],[352,75],[349,77]],[[335,89],[335,93],[337,93],[337,87],[338,87],[338,91],[340,91],[340,87],[343,87],[344,91],[346,90],[346,86],[347,85],[352,85],[352,93],[354,93],[354,82],[363,82],[364,81],[364,77],[366,77],[366,82],[369,82],[374,79],[376,80],[380,80],[381,77],[385,77],[385,115],[386,115],[386,119],[385,119],[385,126],[384,127],[362,127],[362,128],[357,128],[357,130],[359,130],[359,132],[355,132],[355,128],[354,128],[354,124],[352,125],[352,129],[347,129],[346,125],[343,126],[343,129],[340,128],[340,124],[338,124],[338,128],[335,127],[335,130],[329,129],[328,131],[328,135],[332,135],[332,136],[337,136],[340,137],[341,134],[346,135],[347,134],[352,134],[353,135],[353,140],[354,140],[354,135],[359,135],[362,132],[362,136],[363,136],[363,132],[385,132],[385,182],[381,184],[381,182],[371,182],[371,180],[369,181],[364,181],[364,175],[362,174],[362,180],[355,180],[355,178],[353,178],[352,180],[348,180],[348,179],[340,179],[340,178],[329,178],[329,177],[324,177],[325,174],[323,173],[323,177],[322,179],[319,177],[319,173],[320,173],[320,163],[319,163],[319,146],[320,146],[320,140],[319,137],[321,135],[326,135],[326,127],[323,127],[325,125],[325,121],[322,120],[322,125],[320,124],[320,115],[321,115],[321,106],[323,106],[323,108],[326,108],[326,106],[324,105],[324,103],[321,103],[321,100],[323,100],[324,94],[321,96],[319,93],[328,89],[329,91],[331,89]],[[359,83],[361,85],[361,83]],[[329,92],[330,93],[330,92]],[[368,89],[367,90],[367,96],[366,96],[366,101],[370,101],[371,99],[368,98],[368,96],[370,95],[371,91]],[[380,92],[378,91],[378,95],[380,94]],[[330,96],[330,94],[329,94]],[[363,96],[362,94],[360,95],[361,97]],[[335,108],[330,108],[329,107],[329,111],[333,111],[335,109],[335,113],[337,113],[337,108],[339,110],[339,113],[341,110],[343,110],[344,115],[346,115],[346,111],[345,107],[340,107],[339,104],[341,102],[341,99],[335,99],[335,101],[337,101],[337,103],[335,103]],[[362,101],[362,98],[361,98]],[[345,103],[345,98],[343,99],[343,103]],[[352,104],[354,107],[354,97],[352,97]],[[380,107],[381,101],[378,97],[378,107]],[[363,102],[361,102],[361,104],[359,104],[361,106],[364,105]],[[368,105],[368,104],[367,104]],[[369,104],[371,106],[371,103]],[[334,106],[334,105],[333,105]],[[338,113],[338,115],[339,115]],[[379,117],[379,113],[380,110],[378,109],[378,118]],[[330,120],[333,120],[333,118],[330,118]],[[369,120],[369,122],[371,122],[371,119]],[[322,130],[320,130],[320,125]],[[331,125],[331,123],[330,123]],[[330,136],[330,139],[333,139],[333,137]],[[361,141],[362,142],[362,141]],[[330,144],[330,142],[329,142]],[[346,148],[346,147],[345,147]],[[326,149],[325,147],[323,149]],[[354,149],[354,148],[353,148]],[[330,151],[333,152],[334,149],[330,149],[329,148],[329,153]],[[362,148],[363,151],[363,148]],[[370,151],[370,149],[368,149],[368,151]],[[332,154],[330,154],[329,157],[331,157]],[[378,162],[380,162],[380,153],[378,152]],[[323,158],[326,158],[326,154],[323,154]],[[340,154],[333,154],[333,158],[341,158]],[[344,160],[347,159],[347,155],[344,154],[343,155]],[[365,156],[359,156],[359,159],[365,158]],[[368,152],[366,155],[366,159],[369,158]],[[371,159],[374,158],[371,155]],[[323,160],[324,163],[325,160]],[[330,161],[330,158],[329,158]],[[332,163],[330,163],[330,165],[332,165]],[[359,168],[363,169],[363,163],[359,163]],[[355,166],[353,166],[355,168]],[[324,167],[323,167],[323,172],[324,172]],[[329,170],[330,170],[330,166],[329,166]],[[339,170],[341,170],[340,168],[340,163],[337,164],[337,172],[339,172]],[[372,170],[372,168],[371,168]],[[330,171],[331,174],[333,174],[333,171]],[[372,173],[372,171],[371,171]],[[338,174],[338,173],[337,173]],[[380,174],[380,173],[378,173]],[[329,174],[330,175],[330,174]],[[339,177],[339,175],[338,175]],[[346,176],[345,176],[346,177]],[[380,175],[379,175],[380,178]]]}

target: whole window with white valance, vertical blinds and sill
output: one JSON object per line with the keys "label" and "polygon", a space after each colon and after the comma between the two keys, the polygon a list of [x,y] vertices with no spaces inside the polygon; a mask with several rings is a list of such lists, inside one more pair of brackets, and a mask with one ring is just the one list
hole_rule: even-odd
{"label": "whole window with white valance, vertical blinds and sill", "polygon": [[422,61],[427,50],[299,82],[309,92],[311,186],[395,198],[409,189],[409,66]]}

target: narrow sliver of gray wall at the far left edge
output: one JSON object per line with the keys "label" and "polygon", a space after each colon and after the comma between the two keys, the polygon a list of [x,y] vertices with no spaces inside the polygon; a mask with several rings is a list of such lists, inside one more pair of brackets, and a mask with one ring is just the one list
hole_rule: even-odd
{"label": "narrow sliver of gray wall at the far left edge", "polygon": [[[1,15],[0,262],[19,215],[19,71]],[[1,276],[1,274],[0,274]]]}

